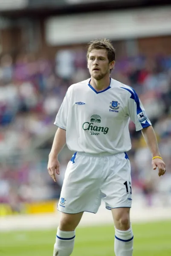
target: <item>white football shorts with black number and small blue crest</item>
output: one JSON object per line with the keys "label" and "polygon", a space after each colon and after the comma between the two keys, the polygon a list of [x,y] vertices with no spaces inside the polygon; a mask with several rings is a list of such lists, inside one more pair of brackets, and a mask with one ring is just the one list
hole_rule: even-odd
{"label": "white football shorts with black number and small blue crest", "polygon": [[101,199],[107,209],[131,207],[128,155],[76,152],[67,165],[58,210],[72,214],[96,213]]}

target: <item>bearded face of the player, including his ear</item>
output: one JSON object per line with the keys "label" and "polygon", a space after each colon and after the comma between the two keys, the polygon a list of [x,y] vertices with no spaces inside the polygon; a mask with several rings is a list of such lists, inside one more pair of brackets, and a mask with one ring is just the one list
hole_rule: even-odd
{"label": "bearded face of the player, including his ear", "polygon": [[100,80],[107,75],[109,76],[110,69],[113,68],[114,64],[114,61],[109,63],[105,49],[93,49],[89,54],[88,69],[90,75],[96,80]]}

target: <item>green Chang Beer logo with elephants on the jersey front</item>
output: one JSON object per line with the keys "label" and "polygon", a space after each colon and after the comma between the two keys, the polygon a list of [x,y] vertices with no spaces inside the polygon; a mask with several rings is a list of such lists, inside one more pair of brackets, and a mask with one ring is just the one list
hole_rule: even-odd
{"label": "green Chang Beer logo with elephants on the jersey front", "polygon": [[[96,124],[94,124],[96,123]],[[84,131],[90,131],[91,135],[99,135],[100,133],[107,134],[108,127],[99,125],[101,123],[101,116],[93,115],[90,117],[90,122],[84,122],[82,128]]]}

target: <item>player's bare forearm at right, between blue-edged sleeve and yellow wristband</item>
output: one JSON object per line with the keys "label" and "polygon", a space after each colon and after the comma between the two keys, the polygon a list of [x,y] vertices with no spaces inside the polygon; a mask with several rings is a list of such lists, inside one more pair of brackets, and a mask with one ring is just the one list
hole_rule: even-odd
{"label": "player's bare forearm at right, between blue-edged sleeve and yellow wristband", "polygon": [[142,135],[151,151],[152,157],[160,156],[156,134],[152,125],[142,129]]}

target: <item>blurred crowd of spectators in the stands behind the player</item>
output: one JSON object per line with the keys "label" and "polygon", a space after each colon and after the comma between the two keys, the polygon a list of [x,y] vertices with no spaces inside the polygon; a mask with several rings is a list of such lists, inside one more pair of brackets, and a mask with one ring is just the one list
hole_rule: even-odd
{"label": "blurred crowd of spectators in the stands behind the player", "polygon": [[[0,203],[58,198],[72,152],[61,153],[61,177],[54,184],[46,171],[48,137],[67,88],[89,77],[83,49],[60,50],[53,60],[33,54],[0,58]],[[171,56],[119,59],[112,78],[133,87],[157,133],[167,173],[151,169],[151,153],[130,121],[132,186],[151,204],[151,195],[171,192]],[[47,138],[47,140],[43,140]],[[36,140],[42,140],[35,149]],[[43,152],[43,153],[42,153]],[[66,157],[67,156],[67,157]],[[165,204],[167,204],[167,200]],[[20,211],[20,207],[15,209]]]}

